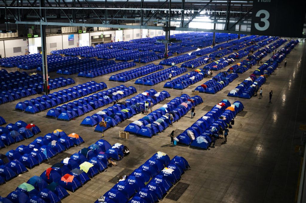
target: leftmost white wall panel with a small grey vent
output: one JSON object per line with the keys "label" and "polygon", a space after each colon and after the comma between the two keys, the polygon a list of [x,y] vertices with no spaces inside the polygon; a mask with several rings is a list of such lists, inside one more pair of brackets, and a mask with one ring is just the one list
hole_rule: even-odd
{"label": "leftmost white wall panel with a small grey vent", "polygon": [[[28,53],[28,39],[5,40],[4,46],[6,57],[25,55]],[[21,52],[14,53],[14,47],[21,47]]]}

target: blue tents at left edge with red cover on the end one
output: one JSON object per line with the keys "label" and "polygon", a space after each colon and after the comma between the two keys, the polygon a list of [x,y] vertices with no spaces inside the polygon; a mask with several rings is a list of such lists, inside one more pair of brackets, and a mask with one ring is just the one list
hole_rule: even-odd
{"label": "blue tents at left edge with red cover on the end one", "polygon": [[9,123],[6,127],[0,127],[0,148],[23,141],[40,132],[39,127],[33,123],[27,124],[22,120],[17,121],[15,124]]}

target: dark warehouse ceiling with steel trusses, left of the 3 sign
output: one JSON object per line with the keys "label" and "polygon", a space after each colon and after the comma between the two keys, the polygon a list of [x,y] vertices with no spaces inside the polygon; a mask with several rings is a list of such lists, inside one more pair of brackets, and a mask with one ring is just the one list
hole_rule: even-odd
{"label": "dark warehouse ceiling with steel trusses, left of the 3 sign", "polygon": [[252,4],[252,1],[212,0],[1,0],[0,29],[20,32],[40,22],[53,27],[151,29],[166,23],[170,16],[181,30],[192,31],[189,23],[206,16],[211,23],[224,20],[225,30],[235,30],[234,23],[229,22],[239,25],[250,20]]}

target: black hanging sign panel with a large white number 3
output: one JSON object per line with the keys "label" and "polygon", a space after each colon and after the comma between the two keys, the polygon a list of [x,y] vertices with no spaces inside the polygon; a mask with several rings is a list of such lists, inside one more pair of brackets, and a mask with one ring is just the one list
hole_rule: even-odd
{"label": "black hanging sign panel with a large white number 3", "polygon": [[251,34],[302,37],[305,0],[253,0]]}

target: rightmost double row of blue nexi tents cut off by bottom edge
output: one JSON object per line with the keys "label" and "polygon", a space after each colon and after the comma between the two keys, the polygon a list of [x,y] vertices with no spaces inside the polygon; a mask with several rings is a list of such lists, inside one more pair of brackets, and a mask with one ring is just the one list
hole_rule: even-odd
{"label": "rightmost double row of blue nexi tents cut off by bottom edge", "polygon": [[170,157],[161,151],[119,181],[95,203],[155,203],[162,200],[190,168],[181,156]]}

